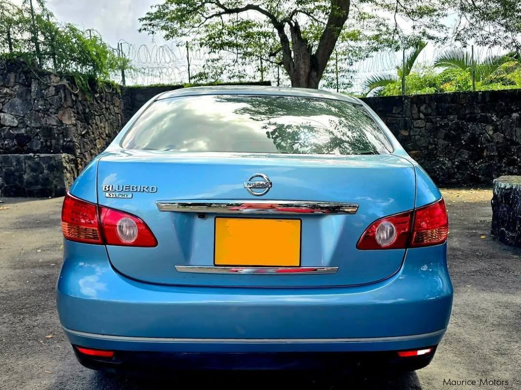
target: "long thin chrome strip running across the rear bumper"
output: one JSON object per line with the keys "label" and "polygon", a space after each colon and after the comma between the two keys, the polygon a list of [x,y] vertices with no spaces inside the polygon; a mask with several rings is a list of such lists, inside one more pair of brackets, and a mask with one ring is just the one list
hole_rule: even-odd
{"label": "long thin chrome strip running across the rear bumper", "polygon": [[287,344],[287,343],[367,343],[382,341],[406,341],[425,339],[427,337],[439,336],[445,333],[445,329],[408,336],[391,336],[391,337],[356,337],[345,339],[188,339],[176,337],[135,337],[135,336],[111,336],[106,334],[96,334],[70,330],[63,327],[64,331],[81,337],[91,337],[93,339],[114,340],[114,341],[142,341],[142,342],[158,342],[158,343],[262,343],[262,344]]}

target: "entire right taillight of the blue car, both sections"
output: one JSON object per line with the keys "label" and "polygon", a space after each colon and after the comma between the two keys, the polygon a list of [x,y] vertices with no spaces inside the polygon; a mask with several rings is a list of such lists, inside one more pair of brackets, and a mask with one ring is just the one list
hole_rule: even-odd
{"label": "entire right taillight of the blue car, both sections", "polygon": [[356,244],[357,249],[404,249],[437,245],[449,235],[449,220],[443,199],[414,211],[391,215],[373,222]]}

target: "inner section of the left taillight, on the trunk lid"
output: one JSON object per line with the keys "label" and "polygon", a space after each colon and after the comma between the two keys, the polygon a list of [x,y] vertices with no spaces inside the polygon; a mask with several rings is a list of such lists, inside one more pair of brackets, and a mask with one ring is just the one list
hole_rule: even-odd
{"label": "inner section of the left taillight, on the trunk lid", "polygon": [[103,236],[107,245],[156,246],[152,231],[140,218],[100,206]]}

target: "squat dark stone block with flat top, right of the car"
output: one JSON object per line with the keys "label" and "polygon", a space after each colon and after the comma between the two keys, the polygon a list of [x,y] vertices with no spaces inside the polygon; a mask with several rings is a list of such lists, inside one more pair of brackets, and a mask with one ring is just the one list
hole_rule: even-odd
{"label": "squat dark stone block with flat top, right of the car", "polygon": [[521,246],[521,176],[494,180],[492,235],[508,245]]}

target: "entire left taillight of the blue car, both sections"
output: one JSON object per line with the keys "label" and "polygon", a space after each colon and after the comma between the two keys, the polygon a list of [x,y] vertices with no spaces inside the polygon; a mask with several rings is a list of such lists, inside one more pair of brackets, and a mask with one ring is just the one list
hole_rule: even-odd
{"label": "entire left taillight of the blue car, both sections", "polygon": [[154,234],[142,219],[97,206],[67,194],[61,209],[61,230],[71,241],[90,244],[156,246]]}

